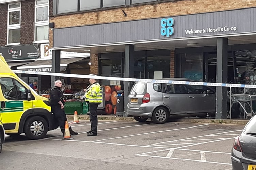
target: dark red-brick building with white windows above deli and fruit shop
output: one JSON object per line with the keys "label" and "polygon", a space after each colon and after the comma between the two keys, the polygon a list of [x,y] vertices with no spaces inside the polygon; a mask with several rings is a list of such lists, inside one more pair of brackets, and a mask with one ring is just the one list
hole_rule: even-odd
{"label": "dark red-brick building with white windows above deli and fruit shop", "polygon": [[[49,4],[51,2],[49,0],[0,0],[0,53],[3,54],[11,69],[51,72],[52,52],[49,50],[49,13],[52,13],[52,5]],[[89,53],[62,51],[61,58],[59,67],[63,73],[79,74],[82,71],[89,74],[90,69],[87,65]],[[80,68],[77,68],[77,65]],[[21,74],[19,77],[28,84],[34,79],[38,80],[39,94],[47,93],[51,88],[49,76]],[[70,82],[72,82],[70,79],[64,80],[65,84]]]}

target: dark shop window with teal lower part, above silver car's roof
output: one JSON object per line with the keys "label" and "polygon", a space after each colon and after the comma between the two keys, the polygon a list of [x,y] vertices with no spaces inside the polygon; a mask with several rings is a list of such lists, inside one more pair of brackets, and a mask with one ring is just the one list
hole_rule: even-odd
{"label": "dark shop window with teal lower part, above silver car's roof", "polygon": [[195,81],[203,81],[203,54],[184,53],[178,54],[180,76]]}

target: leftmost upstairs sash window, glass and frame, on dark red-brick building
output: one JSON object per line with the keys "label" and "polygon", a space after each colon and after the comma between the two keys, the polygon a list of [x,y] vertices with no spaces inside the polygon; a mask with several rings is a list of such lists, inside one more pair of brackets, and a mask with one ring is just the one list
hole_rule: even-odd
{"label": "leftmost upstairs sash window, glass and frame, on dark red-brick building", "polygon": [[8,5],[8,44],[20,42],[20,3]]}

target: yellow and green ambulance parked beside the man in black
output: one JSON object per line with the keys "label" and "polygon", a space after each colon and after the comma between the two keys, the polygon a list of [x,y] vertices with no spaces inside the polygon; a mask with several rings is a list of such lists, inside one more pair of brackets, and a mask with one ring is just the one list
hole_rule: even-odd
{"label": "yellow and green ambulance parked beside the man in black", "polygon": [[42,139],[58,127],[49,100],[14,74],[1,54],[0,87],[0,119],[7,135]]}

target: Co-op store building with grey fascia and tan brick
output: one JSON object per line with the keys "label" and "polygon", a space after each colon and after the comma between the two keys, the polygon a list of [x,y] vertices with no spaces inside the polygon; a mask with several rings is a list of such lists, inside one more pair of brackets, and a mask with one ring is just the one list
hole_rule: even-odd
{"label": "Co-op store building with grey fascia and tan brick", "polygon": [[[86,2],[50,1],[53,60],[60,50],[90,50],[93,74],[153,79],[162,71],[163,78],[255,83],[254,0]],[[122,88],[127,96],[129,84]],[[217,87],[216,98],[217,118],[225,119],[227,89]]]}

